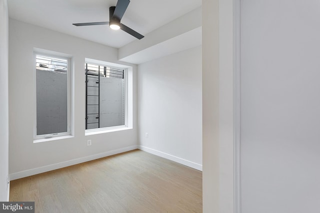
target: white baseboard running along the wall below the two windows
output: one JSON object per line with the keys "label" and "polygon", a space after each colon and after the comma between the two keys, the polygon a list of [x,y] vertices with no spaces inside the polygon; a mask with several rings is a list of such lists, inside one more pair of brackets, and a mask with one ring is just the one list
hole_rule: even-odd
{"label": "white baseboard running along the wall below the two windows", "polygon": [[138,148],[139,148],[138,145],[133,145],[133,146],[124,147],[121,149],[111,150],[108,152],[98,153],[95,155],[85,156],[82,158],[76,158],[76,159],[69,160],[69,161],[64,161],[64,162],[60,162],[60,163],[56,163],[56,164],[51,164],[51,165],[47,165],[47,166],[43,166],[43,167],[38,167],[38,168],[30,169],[30,170],[17,172],[17,173],[12,173],[9,175],[9,179],[10,179],[10,181],[12,181],[12,180],[16,180],[19,178],[25,178],[25,177],[28,177],[31,175],[36,175],[36,174],[40,174],[40,173],[44,173],[44,172],[48,172],[48,171],[52,171],[52,170],[56,170],[56,169],[61,169],[63,167],[68,167],[68,166],[80,164],[83,162],[92,161],[92,160],[99,159],[99,158],[104,158],[107,156],[135,150]]}

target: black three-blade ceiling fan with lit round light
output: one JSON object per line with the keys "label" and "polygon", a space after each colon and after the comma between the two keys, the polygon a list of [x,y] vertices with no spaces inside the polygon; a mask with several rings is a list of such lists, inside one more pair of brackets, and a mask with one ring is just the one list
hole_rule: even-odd
{"label": "black three-blade ceiling fan with lit round light", "polygon": [[72,23],[75,26],[88,26],[88,25],[101,25],[101,24],[109,24],[111,29],[122,29],[123,31],[129,33],[130,35],[136,37],[137,39],[141,39],[144,36],[140,33],[134,31],[128,26],[120,23],[120,20],[128,7],[130,0],[118,0],[115,6],[109,7],[109,21],[103,22],[88,22],[88,23]]}

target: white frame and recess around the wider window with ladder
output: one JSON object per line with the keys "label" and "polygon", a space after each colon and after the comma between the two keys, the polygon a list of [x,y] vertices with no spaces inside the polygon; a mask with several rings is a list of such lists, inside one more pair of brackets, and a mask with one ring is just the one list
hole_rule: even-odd
{"label": "white frame and recess around the wider window with ladder", "polygon": [[[132,116],[132,113],[133,113],[132,112],[132,105],[133,105],[132,89],[133,88],[132,88],[132,82],[129,83],[129,80],[130,81],[133,80],[132,79],[132,70],[133,70],[133,68],[131,66],[127,66],[127,65],[123,65],[123,64],[111,63],[111,62],[107,62],[107,61],[100,61],[100,60],[90,59],[90,58],[85,58],[84,65],[86,63],[94,64],[94,65],[100,65],[100,66],[113,67],[113,68],[118,68],[118,69],[123,69],[123,78],[124,78],[124,125],[112,126],[112,127],[100,127],[100,128],[94,128],[94,129],[85,129],[85,123],[84,123],[85,136],[132,129],[132,117],[133,117]],[[129,72],[131,73],[130,75],[128,74]],[[129,76],[130,76],[130,78],[129,78]],[[84,95],[85,95],[85,93],[84,93]],[[86,102],[84,104],[86,104]]]}

